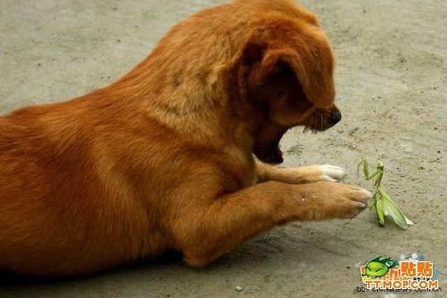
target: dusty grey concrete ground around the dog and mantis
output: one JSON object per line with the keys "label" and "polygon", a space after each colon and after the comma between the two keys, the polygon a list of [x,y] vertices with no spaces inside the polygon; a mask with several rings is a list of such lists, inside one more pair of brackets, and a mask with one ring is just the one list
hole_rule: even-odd
{"label": "dusty grey concrete ground around the dog and mantis", "polygon": [[[1,114],[105,86],[177,21],[219,3],[1,0]],[[166,261],[57,283],[3,278],[0,297],[350,297],[359,262],[413,252],[434,262],[447,290],[446,1],[302,3],[318,13],[335,47],[344,119],[319,135],[288,133],[285,165],[341,165],[349,182],[368,188],[356,165],[360,156],[381,158],[386,188],[415,226],[379,228],[372,211],[351,221],[292,223],[205,269]]]}

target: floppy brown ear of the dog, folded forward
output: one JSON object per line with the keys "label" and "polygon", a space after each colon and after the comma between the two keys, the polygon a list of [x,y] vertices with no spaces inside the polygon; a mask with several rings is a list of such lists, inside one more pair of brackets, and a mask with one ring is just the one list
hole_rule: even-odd
{"label": "floppy brown ear of the dog, folded forward", "polygon": [[292,72],[310,102],[317,107],[332,105],[335,98],[332,50],[325,38],[306,39],[295,40],[292,47],[274,43],[262,35],[249,38],[240,52],[240,86],[253,90],[256,84],[268,83],[269,77],[277,73]]}

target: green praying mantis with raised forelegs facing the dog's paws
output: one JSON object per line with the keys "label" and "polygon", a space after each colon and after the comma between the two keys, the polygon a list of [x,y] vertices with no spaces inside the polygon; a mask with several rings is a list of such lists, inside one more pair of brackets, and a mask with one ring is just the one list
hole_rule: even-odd
{"label": "green praying mantis with raised forelegs facing the dog's paws", "polygon": [[412,221],[407,218],[402,211],[400,211],[399,207],[397,207],[396,202],[386,193],[386,191],[382,188],[381,183],[383,179],[383,173],[385,171],[385,166],[381,161],[379,161],[376,165],[376,170],[372,173],[369,172],[369,164],[362,158],[360,161],[357,174],[362,167],[363,174],[365,174],[365,179],[367,181],[374,179],[374,195],[372,196],[372,204],[369,207],[373,207],[376,209],[377,218],[379,219],[379,223],[381,225],[385,225],[386,217],[391,218],[396,225],[398,225],[402,229],[409,228],[410,225],[414,225]]}

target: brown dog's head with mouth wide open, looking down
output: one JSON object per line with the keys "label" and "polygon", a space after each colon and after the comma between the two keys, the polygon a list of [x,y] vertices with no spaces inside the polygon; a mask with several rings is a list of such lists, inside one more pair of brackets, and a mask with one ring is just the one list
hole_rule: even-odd
{"label": "brown dog's head with mouth wide open, looking down", "polygon": [[265,17],[244,40],[237,80],[244,100],[263,114],[254,154],[283,161],[279,141],[294,126],[325,131],[340,121],[334,105],[334,58],[316,17],[296,8],[295,17]]}

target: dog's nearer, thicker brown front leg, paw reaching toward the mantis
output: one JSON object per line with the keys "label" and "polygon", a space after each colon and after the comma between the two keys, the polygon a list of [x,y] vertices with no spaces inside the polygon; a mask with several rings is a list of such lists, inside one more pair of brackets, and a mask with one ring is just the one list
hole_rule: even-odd
{"label": "dog's nearer, thicker brown front leg, paw reaching toward the mantis", "polygon": [[369,198],[369,192],[346,184],[268,181],[182,209],[173,221],[173,237],[186,262],[203,266],[274,225],[353,218]]}

